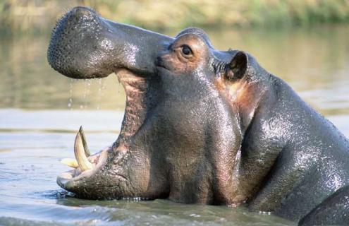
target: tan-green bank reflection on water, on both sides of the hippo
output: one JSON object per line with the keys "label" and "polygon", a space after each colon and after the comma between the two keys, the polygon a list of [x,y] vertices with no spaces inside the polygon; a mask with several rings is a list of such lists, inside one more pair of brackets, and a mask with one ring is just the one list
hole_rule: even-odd
{"label": "tan-green bank reflection on water, on both sides of the hippo", "polygon": [[[207,32],[218,49],[250,52],[323,114],[349,114],[348,25]],[[48,40],[0,40],[0,107],[123,109],[125,94],[115,75],[91,81],[60,76],[47,64]]]}

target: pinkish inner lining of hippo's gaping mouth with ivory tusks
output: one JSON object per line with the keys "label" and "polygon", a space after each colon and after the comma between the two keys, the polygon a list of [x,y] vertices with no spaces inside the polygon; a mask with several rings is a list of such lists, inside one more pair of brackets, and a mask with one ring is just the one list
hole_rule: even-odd
{"label": "pinkish inner lining of hippo's gaping mouth with ivory tusks", "polygon": [[[121,132],[112,148],[106,148],[91,155],[87,147],[85,133],[80,127],[75,136],[74,155],[75,159],[64,158],[61,162],[73,169],[63,172],[57,177],[57,184],[68,191],[81,186],[84,180],[89,179],[97,173],[102,172],[114,155],[121,156],[128,151],[132,136],[142,126],[146,114],[145,93],[147,91],[147,78],[137,76],[128,69],[117,69],[115,71],[118,81],[123,85],[126,94],[125,113],[121,125]],[[112,155],[110,155],[112,154]],[[114,177],[125,181],[125,176],[114,174]]]}

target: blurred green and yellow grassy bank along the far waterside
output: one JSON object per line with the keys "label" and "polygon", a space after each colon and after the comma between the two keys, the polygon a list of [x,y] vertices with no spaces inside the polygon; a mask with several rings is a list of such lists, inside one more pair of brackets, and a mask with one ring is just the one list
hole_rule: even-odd
{"label": "blurred green and yellow grassy bank along the far waterside", "polygon": [[72,6],[91,6],[106,18],[152,30],[200,27],[310,26],[349,21],[347,0],[1,0],[0,28],[37,32]]}

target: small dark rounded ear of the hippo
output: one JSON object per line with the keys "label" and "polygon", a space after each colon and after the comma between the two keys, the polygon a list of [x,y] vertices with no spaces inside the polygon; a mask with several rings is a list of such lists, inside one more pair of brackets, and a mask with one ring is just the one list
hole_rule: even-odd
{"label": "small dark rounded ear of the hippo", "polygon": [[226,77],[231,80],[243,78],[247,71],[247,61],[248,57],[245,52],[237,52],[228,64]]}

